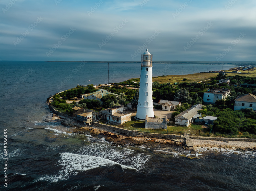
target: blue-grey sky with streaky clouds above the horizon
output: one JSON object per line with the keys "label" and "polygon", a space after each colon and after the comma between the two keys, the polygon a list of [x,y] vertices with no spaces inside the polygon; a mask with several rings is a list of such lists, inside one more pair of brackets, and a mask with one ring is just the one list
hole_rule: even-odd
{"label": "blue-grey sky with streaky clouds above the horizon", "polygon": [[[0,60],[256,61],[255,0],[1,0]],[[140,50],[142,49],[142,51]]]}

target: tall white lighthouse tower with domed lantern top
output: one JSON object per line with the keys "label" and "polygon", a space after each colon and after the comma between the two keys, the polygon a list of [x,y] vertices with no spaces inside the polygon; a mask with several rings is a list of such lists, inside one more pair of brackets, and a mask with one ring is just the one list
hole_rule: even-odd
{"label": "tall white lighthouse tower with domed lantern top", "polygon": [[148,50],[141,55],[141,81],[137,106],[137,119],[154,117],[152,92],[152,56]]}

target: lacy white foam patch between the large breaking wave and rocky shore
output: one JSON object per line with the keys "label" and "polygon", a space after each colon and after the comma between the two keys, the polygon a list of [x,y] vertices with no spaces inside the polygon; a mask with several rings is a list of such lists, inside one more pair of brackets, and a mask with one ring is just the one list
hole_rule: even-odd
{"label": "lacy white foam patch between the large breaking wave and rocky shore", "polygon": [[109,159],[140,171],[151,158],[150,155],[135,152],[134,150],[113,147],[110,145],[92,143],[78,150],[78,154],[91,155]]}

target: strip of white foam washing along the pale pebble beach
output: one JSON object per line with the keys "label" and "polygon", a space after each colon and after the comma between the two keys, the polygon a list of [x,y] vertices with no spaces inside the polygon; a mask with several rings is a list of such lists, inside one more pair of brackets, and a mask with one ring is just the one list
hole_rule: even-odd
{"label": "strip of white foam washing along the pale pebble beach", "polygon": [[240,151],[240,150],[230,149],[230,148],[201,147],[201,148],[197,148],[196,150],[198,152],[207,152],[207,151],[221,152],[223,155],[237,154],[237,155],[242,155],[244,157],[256,157],[256,152]]}

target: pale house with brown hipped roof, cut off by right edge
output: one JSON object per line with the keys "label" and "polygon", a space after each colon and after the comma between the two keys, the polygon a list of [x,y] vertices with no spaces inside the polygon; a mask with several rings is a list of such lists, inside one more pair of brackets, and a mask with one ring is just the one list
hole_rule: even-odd
{"label": "pale house with brown hipped roof, cut off by right edge", "polygon": [[234,111],[244,108],[252,108],[253,110],[256,110],[256,96],[253,94],[237,96],[234,101]]}

